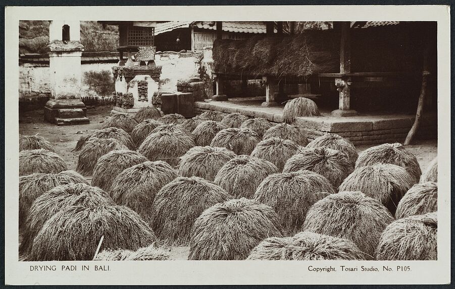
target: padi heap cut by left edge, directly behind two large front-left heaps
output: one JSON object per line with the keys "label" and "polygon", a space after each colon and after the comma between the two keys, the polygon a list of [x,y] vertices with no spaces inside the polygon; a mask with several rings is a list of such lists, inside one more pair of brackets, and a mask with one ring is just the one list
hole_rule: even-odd
{"label": "padi heap cut by left edge, directly behind two large front-left heaps", "polygon": [[19,227],[25,224],[28,211],[35,199],[60,185],[86,184],[84,177],[72,170],[58,174],[32,174],[19,178]]}

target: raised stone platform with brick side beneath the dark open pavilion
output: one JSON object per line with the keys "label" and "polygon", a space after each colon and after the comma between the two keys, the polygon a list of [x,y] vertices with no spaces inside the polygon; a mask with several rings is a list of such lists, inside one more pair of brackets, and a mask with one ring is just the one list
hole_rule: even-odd
{"label": "raised stone platform with brick side beneath the dark open pavilion", "polygon": [[[196,101],[196,113],[217,110],[225,113],[239,112],[252,118],[264,118],[273,123],[283,122],[283,106],[262,107],[260,102]],[[411,114],[358,114],[351,117],[334,117],[322,112],[321,117],[297,118],[296,124],[304,127],[310,141],[328,133],[338,134],[355,145],[403,143],[414,123]],[[422,118],[418,137],[437,137],[437,115],[426,114]]]}

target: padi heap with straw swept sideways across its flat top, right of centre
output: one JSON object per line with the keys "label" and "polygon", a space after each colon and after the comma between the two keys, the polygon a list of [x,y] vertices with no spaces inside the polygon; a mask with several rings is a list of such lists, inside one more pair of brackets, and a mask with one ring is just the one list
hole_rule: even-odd
{"label": "padi heap with straw swept sideways across its flat top, right of centre", "polygon": [[338,188],[354,170],[354,166],[347,156],[338,150],[305,147],[286,161],[283,172],[301,169],[317,172],[326,177],[334,188]]}

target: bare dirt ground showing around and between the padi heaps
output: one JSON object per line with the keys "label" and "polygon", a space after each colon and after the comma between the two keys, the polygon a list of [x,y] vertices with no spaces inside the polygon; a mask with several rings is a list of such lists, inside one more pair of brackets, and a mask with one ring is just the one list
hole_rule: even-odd
{"label": "bare dirt ground showing around and between the padi heaps", "polygon": [[[111,106],[88,106],[87,117],[90,124],[57,126],[43,121],[43,111],[33,110],[24,112],[19,117],[19,134],[38,135],[54,145],[57,153],[66,161],[69,169],[76,169],[78,152],[72,150],[79,138],[86,132],[100,129],[103,122],[108,118]],[[373,145],[358,146],[359,152],[372,147]],[[437,154],[437,140],[417,141],[416,144],[406,147],[419,161],[420,167],[425,170],[429,162]],[[91,182],[91,177],[87,180]],[[189,247],[170,247],[171,258],[174,260],[186,260],[189,254]]]}

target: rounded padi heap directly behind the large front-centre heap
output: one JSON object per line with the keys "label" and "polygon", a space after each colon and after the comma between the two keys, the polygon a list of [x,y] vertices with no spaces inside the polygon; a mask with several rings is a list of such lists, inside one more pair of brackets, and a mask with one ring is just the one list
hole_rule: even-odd
{"label": "rounded padi heap directly behind the large front-centre heap", "polygon": [[215,177],[215,183],[236,198],[252,198],[259,184],[278,168],[270,161],[239,155],[229,160]]}

